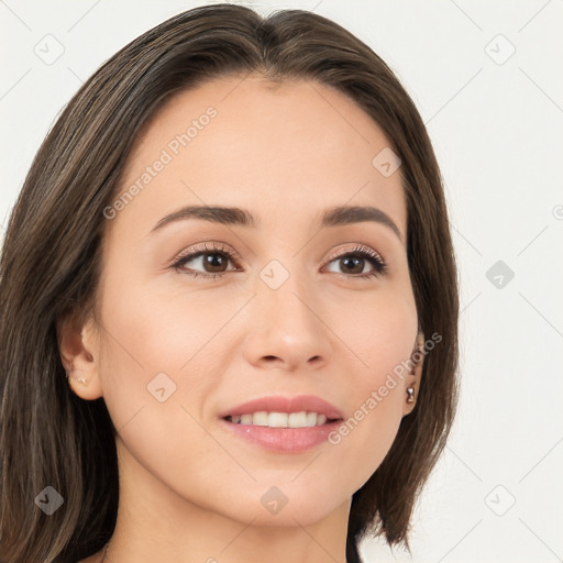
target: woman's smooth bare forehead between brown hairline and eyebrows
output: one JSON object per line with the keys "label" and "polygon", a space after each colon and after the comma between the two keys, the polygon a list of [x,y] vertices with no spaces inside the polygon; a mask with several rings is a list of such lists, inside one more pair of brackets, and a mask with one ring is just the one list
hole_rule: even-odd
{"label": "woman's smooth bare forehead between brown hairline and eyebrows", "polygon": [[[154,222],[181,205],[251,209],[285,222],[338,205],[376,205],[405,233],[399,172],[374,157],[389,141],[344,93],[309,79],[229,76],[176,93],[128,158],[112,223]],[[136,186],[136,189],[132,189]]]}

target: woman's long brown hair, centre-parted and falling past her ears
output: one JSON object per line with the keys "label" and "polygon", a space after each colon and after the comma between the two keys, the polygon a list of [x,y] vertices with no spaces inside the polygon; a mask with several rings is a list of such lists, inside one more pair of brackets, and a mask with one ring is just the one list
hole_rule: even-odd
{"label": "woman's long brown hair, centre-parted and falling past her ears", "polygon": [[[383,534],[408,548],[417,495],[444,448],[456,404],[456,269],[440,170],[423,122],[388,66],[334,22],[302,10],[263,18],[214,4],[132,41],[91,76],[40,147],[10,216],[0,262],[0,560],[67,562],[97,552],[118,509],[114,428],[103,399],[70,389],[56,323],[92,306],[103,209],[135,136],[170,96],[260,71],[336,88],[379,125],[401,159],[407,253],[420,329],[442,340],[423,364],[417,408],[352,498],[347,560]],[[64,498],[51,516],[34,501]]]}

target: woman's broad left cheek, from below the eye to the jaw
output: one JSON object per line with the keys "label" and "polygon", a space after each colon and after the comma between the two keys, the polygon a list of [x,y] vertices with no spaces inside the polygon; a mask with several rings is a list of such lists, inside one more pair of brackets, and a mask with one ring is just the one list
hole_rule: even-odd
{"label": "woman's broad left cheek, from below the eye to the jaw", "polygon": [[[200,421],[225,372],[219,331],[244,300],[239,296],[241,302],[225,300],[220,307],[210,294],[178,296],[150,284],[136,290],[120,286],[118,278],[108,278],[106,287],[104,400],[126,450],[186,498],[199,488],[188,475],[209,474],[212,483],[240,479],[240,467]],[[214,464],[221,467],[217,474]]]}

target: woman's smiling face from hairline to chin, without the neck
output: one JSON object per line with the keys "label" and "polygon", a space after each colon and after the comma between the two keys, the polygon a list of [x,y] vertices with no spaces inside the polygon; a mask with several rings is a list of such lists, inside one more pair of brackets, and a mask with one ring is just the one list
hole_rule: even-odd
{"label": "woman's smiling face from hairline to chin, without the neck", "polygon": [[[345,96],[306,80],[213,80],[152,120],[106,211],[82,332],[92,377],[78,393],[103,396],[121,479],[255,525],[347,510],[411,408],[412,377],[389,384],[418,323],[388,147]],[[332,412],[307,398],[238,409],[302,396]],[[319,426],[261,426],[303,423]]]}

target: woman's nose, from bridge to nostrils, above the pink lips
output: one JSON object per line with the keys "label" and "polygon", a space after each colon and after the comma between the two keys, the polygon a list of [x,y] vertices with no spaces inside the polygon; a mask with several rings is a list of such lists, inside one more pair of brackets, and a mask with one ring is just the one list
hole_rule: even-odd
{"label": "woman's nose, from bridge to nostrils, above the pink lips", "polygon": [[244,342],[244,354],[252,365],[300,372],[328,364],[334,333],[312,292],[294,275],[277,289],[258,282]]}

